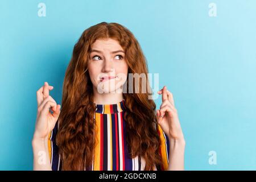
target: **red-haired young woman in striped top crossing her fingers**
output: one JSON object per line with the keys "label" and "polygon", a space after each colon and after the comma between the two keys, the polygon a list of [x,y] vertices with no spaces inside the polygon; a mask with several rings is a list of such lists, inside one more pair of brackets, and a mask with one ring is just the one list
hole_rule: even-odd
{"label": "red-haired young woman in striped top crossing her fingers", "polygon": [[[102,22],[82,33],[65,73],[61,110],[48,82],[37,91],[34,170],[184,169],[172,93],[159,90],[156,110],[151,91],[141,92],[129,73],[146,75],[148,83],[146,59],[127,28]],[[132,92],[123,92],[125,84]]]}

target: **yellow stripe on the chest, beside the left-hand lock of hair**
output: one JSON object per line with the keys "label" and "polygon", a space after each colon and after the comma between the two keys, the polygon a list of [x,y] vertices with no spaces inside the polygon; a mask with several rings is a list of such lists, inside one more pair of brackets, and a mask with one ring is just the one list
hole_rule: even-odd
{"label": "yellow stripe on the chest, beside the left-hand lock of hair", "polygon": [[95,113],[95,150],[94,150],[94,162],[93,162],[93,170],[100,171],[100,128],[101,128],[101,114]]}

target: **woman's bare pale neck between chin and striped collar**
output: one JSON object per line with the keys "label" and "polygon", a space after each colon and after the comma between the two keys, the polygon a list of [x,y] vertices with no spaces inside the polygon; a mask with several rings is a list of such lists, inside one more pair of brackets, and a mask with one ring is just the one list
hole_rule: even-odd
{"label": "woman's bare pale neck between chin and striped collar", "polygon": [[95,104],[117,104],[123,100],[123,93],[98,93],[93,88],[93,101]]}

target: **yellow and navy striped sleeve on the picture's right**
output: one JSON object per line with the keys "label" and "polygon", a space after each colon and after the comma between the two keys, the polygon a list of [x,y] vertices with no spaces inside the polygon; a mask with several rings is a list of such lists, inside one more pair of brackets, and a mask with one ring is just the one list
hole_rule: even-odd
{"label": "yellow and navy striped sleeve on the picture's right", "polygon": [[170,143],[167,135],[164,133],[160,125],[158,124],[157,128],[158,134],[160,136],[160,155],[162,156],[163,165],[161,166],[162,171],[166,171],[168,169],[168,160],[170,155]]}

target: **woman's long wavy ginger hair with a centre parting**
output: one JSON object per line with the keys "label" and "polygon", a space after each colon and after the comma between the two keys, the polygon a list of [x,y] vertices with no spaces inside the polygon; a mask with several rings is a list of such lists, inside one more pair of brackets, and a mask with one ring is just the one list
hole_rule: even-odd
{"label": "woman's long wavy ginger hair with a centre parting", "polygon": [[[86,29],[73,48],[73,55],[65,72],[62,109],[58,119],[56,143],[59,147],[63,170],[84,170],[92,166],[93,129],[95,124],[93,85],[88,73],[91,45],[97,39],[117,40],[125,50],[128,73],[144,73],[148,82],[148,68],[141,46],[134,35],[121,24],[101,22]],[[133,81],[134,82],[134,81]],[[129,86],[129,77],[126,80]],[[133,89],[135,90],[135,84]],[[141,87],[141,81],[139,82]],[[128,87],[127,87],[128,88]],[[148,96],[152,92],[123,93],[127,122],[127,144],[131,158],[145,159],[144,170],[160,168],[160,137],[156,121],[156,105]],[[151,88],[150,88],[151,89]],[[133,91],[134,91],[133,90]]]}

